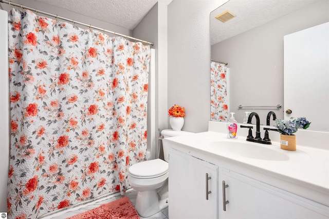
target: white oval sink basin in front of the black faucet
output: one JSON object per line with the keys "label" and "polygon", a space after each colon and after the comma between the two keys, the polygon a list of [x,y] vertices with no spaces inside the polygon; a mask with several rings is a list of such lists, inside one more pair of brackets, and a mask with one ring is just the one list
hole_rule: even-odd
{"label": "white oval sink basin in front of the black faucet", "polygon": [[258,143],[236,140],[214,141],[209,143],[209,148],[212,151],[217,151],[218,154],[231,154],[260,160],[284,161],[289,159],[289,156],[286,154],[275,151],[270,147],[271,145],[258,145]]}

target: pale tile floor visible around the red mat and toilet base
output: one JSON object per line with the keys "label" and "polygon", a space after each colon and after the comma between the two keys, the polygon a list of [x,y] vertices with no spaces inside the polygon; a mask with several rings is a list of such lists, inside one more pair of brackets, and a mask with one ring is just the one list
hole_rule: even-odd
{"label": "pale tile floor visible around the red mat and toilet base", "polygon": [[[131,190],[126,192],[126,196],[129,197],[130,201],[135,206],[137,192],[135,190],[131,189]],[[42,218],[43,219],[65,219],[67,217],[74,216],[76,214],[88,211],[90,209],[97,208],[102,204],[112,202],[112,201],[117,200],[121,197],[123,197],[123,196],[120,195],[120,194],[116,195],[116,196],[109,196],[107,198],[105,197],[105,198],[99,199],[98,201],[95,201],[94,203],[90,203],[87,206],[83,206],[83,207],[80,207],[80,208],[69,209],[69,210],[66,210],[65,212],[58,212],[56,214],[48,215],[48,216],[45,216],[45,217],[42,217]],[[169,218],[168,217],[168,208],[166,208],[166,209],[162,210],[161,212],[156,213],[156,214],[154,214],[150,217],[140,217],[140,218],[141,219],[145,219],[145,218],[147,218],[147,219],[168,219]]]}

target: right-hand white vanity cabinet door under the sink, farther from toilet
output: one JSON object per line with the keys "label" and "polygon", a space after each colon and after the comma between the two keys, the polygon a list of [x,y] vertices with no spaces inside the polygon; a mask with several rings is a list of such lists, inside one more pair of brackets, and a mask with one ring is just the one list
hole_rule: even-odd
{"label": "right-hand white vanity cabinet door under the sink, farther from toilet", "polygon": [[[247,176],[221,169],[220,218],[291,219],[329,218],[328,207],[286,192]],[[225,189],[226,211],[223,210],[222,181]]]}

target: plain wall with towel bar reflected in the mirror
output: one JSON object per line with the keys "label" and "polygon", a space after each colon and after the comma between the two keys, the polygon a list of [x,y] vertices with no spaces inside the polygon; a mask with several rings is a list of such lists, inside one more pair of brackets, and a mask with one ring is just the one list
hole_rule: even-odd
{"label": "plain wall with towel bar reflected in the mirror", "polygon": [[[329,21],[329,1],[322,0],[211,47],[211,58],[228,62],[230,111],[242,122],[255,111],[261,123],[272,110],[283,119],[283,108],[238,109],[238,105],[283,104],[283,36]],[[296,90],[298,92],[298,90]]]}

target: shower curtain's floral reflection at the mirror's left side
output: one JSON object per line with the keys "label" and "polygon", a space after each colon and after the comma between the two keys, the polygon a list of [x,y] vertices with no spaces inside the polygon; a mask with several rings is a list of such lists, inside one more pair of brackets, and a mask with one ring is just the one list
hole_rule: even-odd
{"label": "shower curtain's floral reflection at the mirror's left side", "polygon": [[210,79],[211,121],[228,121],[227,66],[211,62]]}

